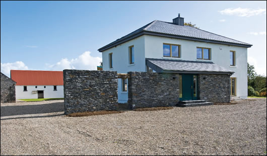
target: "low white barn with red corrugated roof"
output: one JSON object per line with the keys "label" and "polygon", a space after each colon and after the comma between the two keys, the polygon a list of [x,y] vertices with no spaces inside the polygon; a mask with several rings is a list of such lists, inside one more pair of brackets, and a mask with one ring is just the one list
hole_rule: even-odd
{"label": "low white barn with red corrugated roof", "polygon": [[64,98],[63,71],[11,70],[16,99]]}

